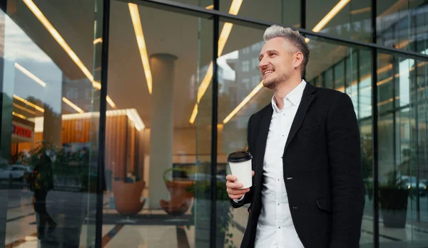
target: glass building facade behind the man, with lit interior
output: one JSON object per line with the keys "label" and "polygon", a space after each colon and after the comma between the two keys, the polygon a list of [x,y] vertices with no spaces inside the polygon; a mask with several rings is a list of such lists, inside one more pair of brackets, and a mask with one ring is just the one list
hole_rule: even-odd
{"label": "glass building facade behind the man, with lit interior", "polygon": [[265,28],[360,124],[360,247],[428,247],[428,1],[0,0],[0,247],[239,247]]}

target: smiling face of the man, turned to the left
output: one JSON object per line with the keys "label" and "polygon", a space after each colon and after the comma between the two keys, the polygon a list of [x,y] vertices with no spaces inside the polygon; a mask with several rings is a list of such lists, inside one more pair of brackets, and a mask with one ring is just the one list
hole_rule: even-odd
{"label": "smiling face of the man, turned to the left", "polygon": [[259,56],[265,87],[275,89],[290,77],[290,73],[295,72],[296,51],[295,46],[285,38],[272,38],[265,42]]}

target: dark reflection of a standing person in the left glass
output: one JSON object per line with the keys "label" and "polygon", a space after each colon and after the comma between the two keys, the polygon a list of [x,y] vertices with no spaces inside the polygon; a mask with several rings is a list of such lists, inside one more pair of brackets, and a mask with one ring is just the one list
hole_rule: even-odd
{"label": "dark reflection of a standing person in the left glass", "polygon": [[34,192],[34,211],[39,214],[40,220],[37,227],[37,237],[43,239],[46,223],[49,224],[49,233],[54,232],[56,228],[56,222],[52,220],[46,211],[46,196],[48,195],[48,191],[54,188],[51,158],[46,153],[41,154],[39,163],[34,166],[29,183],[31,191]]}

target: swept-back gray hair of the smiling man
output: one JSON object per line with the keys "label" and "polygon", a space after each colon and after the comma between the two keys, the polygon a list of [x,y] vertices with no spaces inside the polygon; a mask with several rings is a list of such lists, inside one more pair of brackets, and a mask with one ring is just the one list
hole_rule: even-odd
{"label": "swept-back gray hair of the smiling man", "polygon": [[290,41],[300,53],[303,54],[302,61],[302,75],[306,70],[307,62],[309,61],[309,48],[305,41],[305,37],[301,36],[299,31],[294,31],[291,28],[284,28],[282,26],[272,25],[266,29],[263,35],[263,40],[269,41],[272,38],[285,38]]}

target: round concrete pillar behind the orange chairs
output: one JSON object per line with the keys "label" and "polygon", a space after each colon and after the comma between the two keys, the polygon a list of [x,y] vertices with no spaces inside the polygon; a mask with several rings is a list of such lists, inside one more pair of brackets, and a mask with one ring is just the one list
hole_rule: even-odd
{"label": "round concrete pillar behind the orange chairs", "polygon": [[173,165],[174,64],[170,54],[151,55],[153,91],[151,95],[149,207],[160,209],[159,201],[170,195],[163,182],[163,171]]}

